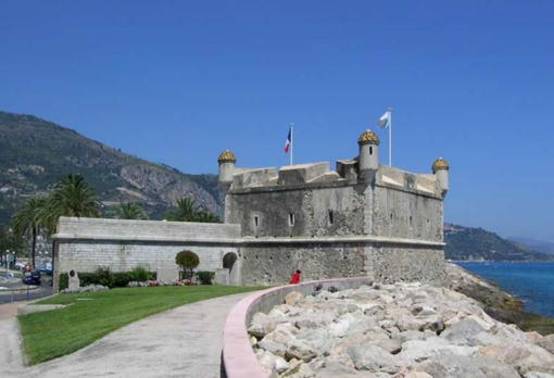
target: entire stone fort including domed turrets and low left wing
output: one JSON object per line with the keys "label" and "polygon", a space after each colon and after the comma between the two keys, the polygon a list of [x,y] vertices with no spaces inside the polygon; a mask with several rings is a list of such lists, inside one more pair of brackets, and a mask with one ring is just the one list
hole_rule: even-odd
{"label": "entire stone fort including domed turrets and low left wing", "polygon": [[358,156],[337,161],[335,171],[326,162],[237,168],[224,151],[224,224],[61,218],[55,269],[167,272],[179,251],[191,250],[198,269],[218,272],[224,284],[282,285],[295,269],[304,280],[439,281],[449,166],[442,159],[433,174],[383,166],[378,144],[364,133]]}

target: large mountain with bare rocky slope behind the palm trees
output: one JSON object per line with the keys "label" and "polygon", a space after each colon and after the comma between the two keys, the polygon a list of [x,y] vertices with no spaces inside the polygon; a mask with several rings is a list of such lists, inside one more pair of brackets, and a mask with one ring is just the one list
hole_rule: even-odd
{"label": "large mountain with bare rocky slope behind the palm trees", "polygon": [[47,194],[59,178],[81,174],[100,194],[104,213],[124,202],[140,203],[153,219],[182,197],[222,214],[215,175],[186,175],[164,164],[128,155],[51,122],[0,112],[0,224],[8,224],[25,198]]}

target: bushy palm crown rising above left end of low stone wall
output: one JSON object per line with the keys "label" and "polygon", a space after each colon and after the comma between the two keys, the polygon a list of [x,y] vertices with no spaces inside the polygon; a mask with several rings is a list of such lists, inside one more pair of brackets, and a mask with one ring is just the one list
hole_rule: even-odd
{"label": "bushy palm crown rising above left end of low stone wall", "polygon": [[58,181],[48,200],[48,226],[55,228],[60,216],[100,217],[98,196],[81,175],[68,174]]}

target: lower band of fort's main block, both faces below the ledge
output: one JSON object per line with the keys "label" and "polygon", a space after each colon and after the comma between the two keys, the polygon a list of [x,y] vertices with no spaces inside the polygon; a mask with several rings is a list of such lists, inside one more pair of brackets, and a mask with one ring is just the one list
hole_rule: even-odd
{"label": "lower band of fort's main block, both faces below the ledge", "polygon": [[441,282],[442,248],[374,242],[270,244],[241,248],[242,285],[286,285],[297,269],[302,280],[367,276],[379,282]]}

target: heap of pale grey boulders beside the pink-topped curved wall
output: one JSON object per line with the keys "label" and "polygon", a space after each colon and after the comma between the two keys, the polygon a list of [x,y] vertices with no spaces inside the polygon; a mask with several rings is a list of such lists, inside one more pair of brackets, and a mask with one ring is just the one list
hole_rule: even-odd
{"label": "heap of pale grey boulders beside the pink-topped curved wall", "polygon": [[272,378],[554,378],[554,336],[524,332],[428,285],[291,292],[254,314],[249,333]]}

